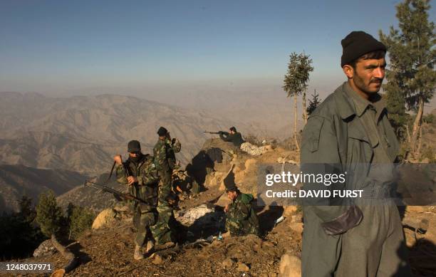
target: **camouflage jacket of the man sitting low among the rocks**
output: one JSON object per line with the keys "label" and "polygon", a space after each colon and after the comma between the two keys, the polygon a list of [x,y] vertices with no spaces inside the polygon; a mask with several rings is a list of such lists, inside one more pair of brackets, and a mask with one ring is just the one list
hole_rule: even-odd
{"label": "camouflage jacket of the man sitting low among the rocks", "polygon": [[251,207],[253,199],[252,194],[240,193],[237,199],[229,204],[226,228],[230,234],[237,236],[255,234],[259,236],[259,219],[257,219],[256,211]]}

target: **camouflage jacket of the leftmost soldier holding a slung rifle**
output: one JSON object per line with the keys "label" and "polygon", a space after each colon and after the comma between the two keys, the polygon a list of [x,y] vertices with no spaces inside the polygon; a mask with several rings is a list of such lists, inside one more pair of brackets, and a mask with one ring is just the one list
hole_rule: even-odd
{"label": "camouflage jacket of the leftmost soldier holding a slung rifle", "polygon": [[129,159],[116,167],[116,174],[120,184],[128,184],[128,174],[137,178],[137,183],[129,186],[129,192],[147,202],[147,204],[140,203],[141,211],[150,210],[157,205],[159,176],[152,156],[142,155],[141,160],[137,163]]}

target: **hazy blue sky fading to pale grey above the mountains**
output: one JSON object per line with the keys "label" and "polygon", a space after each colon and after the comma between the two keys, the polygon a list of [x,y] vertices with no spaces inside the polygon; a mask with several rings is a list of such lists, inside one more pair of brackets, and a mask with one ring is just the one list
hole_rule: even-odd
{"label": "hazy blue sky fading to pale grey above the mountains", "polygon": [[341,39],[378,38],[397,3],[0,0],[0,91],[281,85],[292,51],[313,58],[311,87],[333,88]]}

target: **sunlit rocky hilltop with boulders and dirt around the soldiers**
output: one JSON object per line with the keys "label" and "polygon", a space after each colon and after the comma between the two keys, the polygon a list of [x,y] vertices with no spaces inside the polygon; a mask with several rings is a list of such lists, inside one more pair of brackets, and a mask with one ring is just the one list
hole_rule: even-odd
{"label": "sunlit rocky hilltop with boulders and dirt around the soldiers", "polygon": [[[215,142],[205,143],[201,151],[221,147],[224,155],[229,152],[222,142]],[[301,276],[303,214],[299,207],[258,206],[256,211],[264,234],[262,239],[249,235],[217,240],[224,220],[222,209],[229,201],[223,194],[224,180],[230,174],[242,192],[256,194],[259,165],[273,162],[298,163],[299,157],[296,152],[276,147],[257,157],[237,153],[230,159],[224,156],[222,162],[214,162],[213,170],[206,170],[204,190],[197,197],[180,202],[180,210],[175,212],[177,221],[189,234],[187,240],[170,251],[159,251],[141,261],[133,260],[135,230],[129,211],[120,203],[106,202],[108,209],[98,207],[103,211],[94,221],[92,231],[69,246],[79,256],[81,264],[68,276]],[[68,192],[69,199],[74,199],[76,192],[77,189]],[[81,191],[78,195],[83,193]],[[64,201],[63,197],[68,194],[58,200]],[[100,197],[112,196],[95,194],[92,201]],[[76,199],[81,200],[81,197]],[[412,271],[416,276],[431,276],[436,256],[435,208],[405,207],[401,215]],[[278,222],[281,216],[284,220]],[[430,226],[425,234],[412,229],[419,226],[422,219],[427,219]],[[25,261],[50,261],[56,268],[66,264],[58,253]]]}

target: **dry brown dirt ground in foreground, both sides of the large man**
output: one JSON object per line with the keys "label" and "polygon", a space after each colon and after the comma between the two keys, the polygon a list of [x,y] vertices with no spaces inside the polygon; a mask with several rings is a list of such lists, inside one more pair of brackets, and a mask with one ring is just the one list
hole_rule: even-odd
{"label": "dry brown dirt ground in foreground, both sides of the large man", "polygon": [[[187,200],[184,205],[194,207],[206,195]],[[266,209],[259,217],[276,219],[282,211]],[[436,276],[435,211],[435,207],[408,207],[403,211],[403,222],[419,226],[421,219],[428,219],[430,225],[425,234],[405,227],[413,276]],[[303,226],[299,219],[298,213],[288,216],[262,239],[250,235],[214,240],[212,244],[182,245],[162,255],[160,261],[133,260],[135,230],[130,223],[120,221],[109,229],[88,232],[69,247],[80,257],[81,266],[68,276],[278,276],[281,255],[286,251],[301,254]],[[26,260],[33,261],[50,261],[56,268],[66,264],[60,254]]]}

